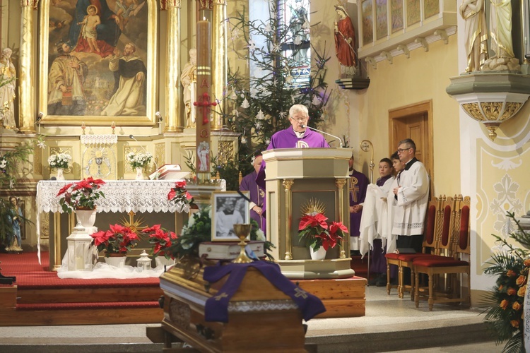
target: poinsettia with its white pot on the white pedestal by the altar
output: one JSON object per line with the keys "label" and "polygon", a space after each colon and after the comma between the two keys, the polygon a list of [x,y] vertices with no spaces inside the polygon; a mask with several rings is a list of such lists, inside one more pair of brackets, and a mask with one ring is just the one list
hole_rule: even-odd
{"label": "poinsettia with its white pot on the white pedestal by the altar", "polygon": [[105,181],[93,179],[93,177],[66,184],[57,193],[57,196],[61,196],[59,205],[66,213],[75,210],[83,227],[93,227],[96,212],[95,201],[105,198],[105,193],[100,191],[103,184]]}

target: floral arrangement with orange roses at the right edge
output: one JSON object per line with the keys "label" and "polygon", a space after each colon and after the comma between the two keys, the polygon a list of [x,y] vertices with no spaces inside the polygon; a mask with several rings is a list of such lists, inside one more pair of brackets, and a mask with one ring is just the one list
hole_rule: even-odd
{"label": "floral arrangement with orange roses at the right edge", "polygon": [[[522,229],[514,213],[507,213],[517,225],[517,230],[510,233],[508,239],[530,249],[530,233]],[[490,265],[484,270],[487,275],[497,276],[495,286],[483,298],[488,306],[484,320],[495,332],[496,343],[506,342],[503,352],[524,352],[524,297],[530,268],[530,251],[509,244],[507,239],[495,237],[499,251],[488,261]]]}

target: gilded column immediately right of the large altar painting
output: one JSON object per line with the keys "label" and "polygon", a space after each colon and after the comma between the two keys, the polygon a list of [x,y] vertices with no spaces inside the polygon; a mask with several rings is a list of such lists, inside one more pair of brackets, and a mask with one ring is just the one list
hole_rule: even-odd
{"label": "gilded column immediately right of the large altar painting", "polygon": [[[163,8],[164,9],[164,8]],[[181,116],[182,88],[180,85],[180,0],[165,1],[167,10],[167,49],[165,62],[165,116],[167,132],[182,132],[184,116]]]}

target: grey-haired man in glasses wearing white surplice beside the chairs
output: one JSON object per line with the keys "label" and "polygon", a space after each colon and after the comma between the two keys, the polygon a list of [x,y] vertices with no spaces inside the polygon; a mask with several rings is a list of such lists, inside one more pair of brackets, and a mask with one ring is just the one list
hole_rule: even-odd
{"label": "grey-haired man in glasses wearing white surplice beside the chairs", "polygon": [[[392,190],[397,201],[392,234],[397,235],[398,249],[413,248],[419,253],[429,201],[429,176],[423,163],[416,159],[416,144],[413,140],[402,140],[398,154],[399,160],[405,163],[405,169],[399,175],[397,187]],[[408,284],[407,279],[410,281],[410,272],[405,275],[405,284]]]}

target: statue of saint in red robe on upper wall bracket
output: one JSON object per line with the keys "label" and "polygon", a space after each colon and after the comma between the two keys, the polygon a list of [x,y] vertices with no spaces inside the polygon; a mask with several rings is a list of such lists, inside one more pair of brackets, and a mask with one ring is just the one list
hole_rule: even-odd
{"label": "statue of saint in red robe on upper wall bracket", "polygon": [[335,53],[341,63],[341,73],[355,75],[355,29],[346,8],[335,6],[338,20],[335,23]]}

